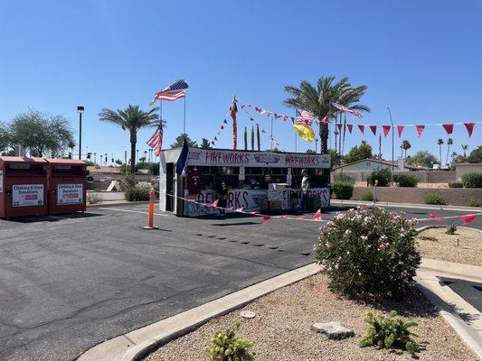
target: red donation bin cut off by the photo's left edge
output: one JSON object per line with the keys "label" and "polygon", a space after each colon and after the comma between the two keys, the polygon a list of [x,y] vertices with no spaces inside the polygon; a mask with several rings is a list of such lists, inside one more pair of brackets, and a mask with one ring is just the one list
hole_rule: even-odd
{"label": "red donation bin cut off by the photo's left edge", "polygon": [[47,214],[47,162],[0,157],[0,217]]}

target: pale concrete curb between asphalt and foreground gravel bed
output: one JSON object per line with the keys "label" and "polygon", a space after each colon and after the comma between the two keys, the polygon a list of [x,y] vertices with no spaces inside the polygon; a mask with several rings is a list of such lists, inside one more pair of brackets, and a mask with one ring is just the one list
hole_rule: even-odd
{"label": "pale concrete curb between asphalt and foreground gravel bed", "polygon": [[298,282],[321,270],[317,264],[307,264],[269,280],[253,284],[243,290],[232,292],[217,300],[204,303],[191,310],[162,319],[141,329],[109,339],[78,358],[78,361],[137,361],[147,356],[157,347],[178,338],[220,316],[241,308],[260,297]]}

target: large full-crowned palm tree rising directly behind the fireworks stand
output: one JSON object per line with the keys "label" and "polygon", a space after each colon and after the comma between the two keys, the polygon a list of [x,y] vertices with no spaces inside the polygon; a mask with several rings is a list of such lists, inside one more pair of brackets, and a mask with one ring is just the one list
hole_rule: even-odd
{"label": "large full-crowned palm tree rising directly behind the fireworks stand", "polygon": [[[369,112],[368,106],[358,104],[366,91],[366,86],[352,87],[348,78],[342,78],[334,84],[335,77],[321,77],[317,86],[307,80],[301,81],[299,88],[288,86],[285,91],[291,95],[284,104],[301,110],[307,110],[317,116],[320,122],[336,116],[336,107],[332,103],[350,107],[354,110]],[[328,123],[320,123],[319,136],[321,153],[328,153]]]}

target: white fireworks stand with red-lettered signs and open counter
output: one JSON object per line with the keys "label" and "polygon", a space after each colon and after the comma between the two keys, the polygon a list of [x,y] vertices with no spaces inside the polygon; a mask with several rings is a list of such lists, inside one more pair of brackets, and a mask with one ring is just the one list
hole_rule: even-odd
{"label": "white fireworks stand with red-lettered signs and open counter", "polygon": [[[311,179],[307,211],[329,206],[330,155],[189,148],[184,173],[175,173],[181,148],[160,154],[159,207],[177,216],[218,213],[184,199],[247,211],[298,210],[301,170]],[[184,199],[182,199],[184,198]]]}

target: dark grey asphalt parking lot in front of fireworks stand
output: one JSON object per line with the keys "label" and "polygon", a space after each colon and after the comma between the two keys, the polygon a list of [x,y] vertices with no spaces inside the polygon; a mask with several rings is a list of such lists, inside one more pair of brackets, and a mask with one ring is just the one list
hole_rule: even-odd
{"label": "dark grey asphalt parking lot in front of fireworks stand", "polygon": [[[416,218],[467,213],[405,210]],[[480,218],[471,226],[480,229]],[[105,339],[309,264],[320,226],[164,214],[158,230],[145,224],[146,204],[0,220],[0,359],[72,360]]]}

